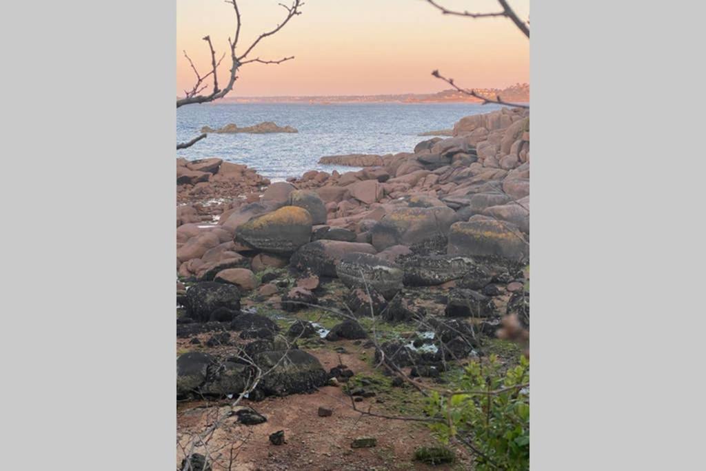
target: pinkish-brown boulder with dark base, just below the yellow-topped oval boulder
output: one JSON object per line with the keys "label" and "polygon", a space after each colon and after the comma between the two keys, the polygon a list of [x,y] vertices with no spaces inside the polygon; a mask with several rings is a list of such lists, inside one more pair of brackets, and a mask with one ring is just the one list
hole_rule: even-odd
{"label": "pinkish-brown boulder with dark base, just below the yellow-topped oval boulder", "polygon": [[317,240],[301,246],[294,252],[290,263],[299,271],[309,271],[315,275],[335,277],[336,266],[345,254],[375,254],[371,244],[342,242],[337,240]]}

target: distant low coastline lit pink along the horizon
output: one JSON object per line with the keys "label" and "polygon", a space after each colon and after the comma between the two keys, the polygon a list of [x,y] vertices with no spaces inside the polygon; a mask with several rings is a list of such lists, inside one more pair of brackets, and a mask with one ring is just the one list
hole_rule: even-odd
{"label": "distant low coastline lit pink along the horizon", "polygon": [[[480,95],[495,98],[498,95],[506,102],[530,102],[530,85],[518,83],[508,88],[477,88]],[[338,105],[352,103],[480,103],[457,90],[438,93],[404,93],[400,95],[336,95],[336,96],[281,96],[281,97],[226,97],[220,103],[300,103],[309,105]]]}

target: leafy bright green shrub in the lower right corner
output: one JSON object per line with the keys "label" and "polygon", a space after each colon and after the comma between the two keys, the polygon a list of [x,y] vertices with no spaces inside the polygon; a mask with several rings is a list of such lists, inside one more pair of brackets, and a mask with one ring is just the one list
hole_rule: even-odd
{"label": "leafy bright green shrub in the lower right corner", "polygon": [[[457,385],[468,393],[433,392],[426,412],[443,422],[431,424],[448,443],[457,436],[473,451],[477,470],[527,470],[530,468],[530,395],[519,385],[530,382],[530,360],[505,374],[495,355],[488,364],[471,362]],[[518,387],[515,387],[518,386]],[[495,393],[478,393],[495,391]]]}

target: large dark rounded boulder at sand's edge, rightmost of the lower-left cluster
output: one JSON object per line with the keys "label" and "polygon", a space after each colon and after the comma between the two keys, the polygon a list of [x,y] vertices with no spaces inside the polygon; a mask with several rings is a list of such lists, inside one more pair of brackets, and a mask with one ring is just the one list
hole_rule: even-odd
{"label": "large dark rounded boulder at sand's edge, rightmost of the lower-left cluster", "polygon": [[265,395],[308,393],[328,381],[318,359],[303,350],[261,352],[253,360],[262,371],[269,371],[258,384]]}

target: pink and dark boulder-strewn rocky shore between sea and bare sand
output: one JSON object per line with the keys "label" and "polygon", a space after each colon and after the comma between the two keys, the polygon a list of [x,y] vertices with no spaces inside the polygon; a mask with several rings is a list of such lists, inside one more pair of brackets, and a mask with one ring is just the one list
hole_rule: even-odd
{"label": "pink and dark boulder-strewn rocky shore between sea and bare sand", "polygon": [[[178,398],[345,398],[382,365],[385,410],[395,368],[442,381],[508,336],[503,316],[528,329],[529,148],[529,112],[505,108],[409,153],[322,158],[364,167],[342,174],[177,160]],[[366,360],[342,376],[352,350]],[[250,389],[255,369],[271,376]]]}

